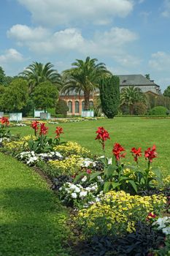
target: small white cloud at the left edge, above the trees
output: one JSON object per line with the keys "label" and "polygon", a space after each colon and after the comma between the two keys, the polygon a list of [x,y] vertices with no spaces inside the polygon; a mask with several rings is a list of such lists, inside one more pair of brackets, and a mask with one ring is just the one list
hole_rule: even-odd
{"label": "small white cloud at the left edge, above the trees", "polygon": [[0,66],[10,64],[11,62],[20,62],[23,60],[23,56],[18,52],[18,50],[10,48],[6,50],[4,54],[0,55]]}

